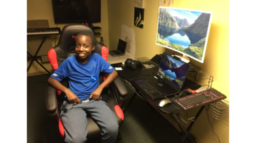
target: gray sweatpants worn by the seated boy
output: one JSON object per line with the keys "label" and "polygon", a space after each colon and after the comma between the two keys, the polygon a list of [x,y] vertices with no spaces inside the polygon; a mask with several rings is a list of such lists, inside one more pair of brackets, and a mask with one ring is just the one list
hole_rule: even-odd
{"label": "gray sweatpants worn by the seated boy", "polygon": [[79,143],[87,140],[87,114],[91,115],[100,127],[102,142],[111,143],[117,140],[117,118],[103,100],[90,100],[77,105],[64,101],[61,109],[65,142]]}

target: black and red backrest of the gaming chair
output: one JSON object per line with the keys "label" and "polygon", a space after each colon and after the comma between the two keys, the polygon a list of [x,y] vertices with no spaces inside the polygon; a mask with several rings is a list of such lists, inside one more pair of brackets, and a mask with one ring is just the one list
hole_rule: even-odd
{"label": "black and red backrest of the gaming chair", "polygon": [[[74,52],[75,38],[79,34],[79,32],[90,32],[94,36],[94,32],[92,31],[92,29],[90,27],[87,27],[86,25],[66,25],[63,27],[61,36],[59,38],[59,43],[48,52],[48,59],[51,63],[53,71],[55,71],[59,67],[59,65],[61,65],[61,63],[66,60],[66,58],[76,55],[76,52]],[[93,38],[95,38],[95,36]],[[107,56],[109,54],[107,47],[102,46],[100,43],[97,42],[95,49],[92,52],[100,54],[100,56],[102,56],[102,58],[107,61]],[[104,74],[101,74],[100,76],[100,83],[103,81],[102,75]],[[68,87],[68,78],[61,81],[61,83],[65,87]],[[57,95],[61,96],[64,95],[64,93],[61,93],[61,91],[57,91]],[[63,97],[64,96],[62,96],[61,100],[63,100]]]}

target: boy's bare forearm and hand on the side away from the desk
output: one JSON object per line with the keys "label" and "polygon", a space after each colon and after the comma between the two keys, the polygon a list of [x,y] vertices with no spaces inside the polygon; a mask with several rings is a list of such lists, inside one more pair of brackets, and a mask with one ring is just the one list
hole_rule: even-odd
{"label": "boy's bare forearm and hand on the side away from the desk", "polygon": [[64,87],[58,80],[50,78],[48,79],[48,83],[50,83],[51,86],[53,86],[55,89],[58,89],[59,91],[62,91],[66,94],[66,98],[68,98],[68,102],[70,104],[78,104],[80,101],[78,96],[74,94],[70,89]]}

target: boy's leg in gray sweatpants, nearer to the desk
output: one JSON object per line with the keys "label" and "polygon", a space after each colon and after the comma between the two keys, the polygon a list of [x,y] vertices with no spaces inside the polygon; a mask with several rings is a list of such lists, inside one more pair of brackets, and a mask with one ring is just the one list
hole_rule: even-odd
{"label": "boy's leg in gray sweatpants, nearer to the desk", "polygon": [[106,102],[102,100],[91,100],[85,104],[85,111],[87,114],[91,115],[92,119],[102,130],[102,142],[115,142],[115,140],[117,140],[119,124],[115,114],[111,111]]}

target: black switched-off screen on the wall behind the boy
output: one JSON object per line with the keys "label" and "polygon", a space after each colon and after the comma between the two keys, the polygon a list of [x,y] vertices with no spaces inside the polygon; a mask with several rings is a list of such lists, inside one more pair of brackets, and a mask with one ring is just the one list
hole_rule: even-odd
{"label": "black switched-off screen on the wall behind the boy", "polygon": [[96,23],[101,20],[101,0],[53,0],[55,23]]}

